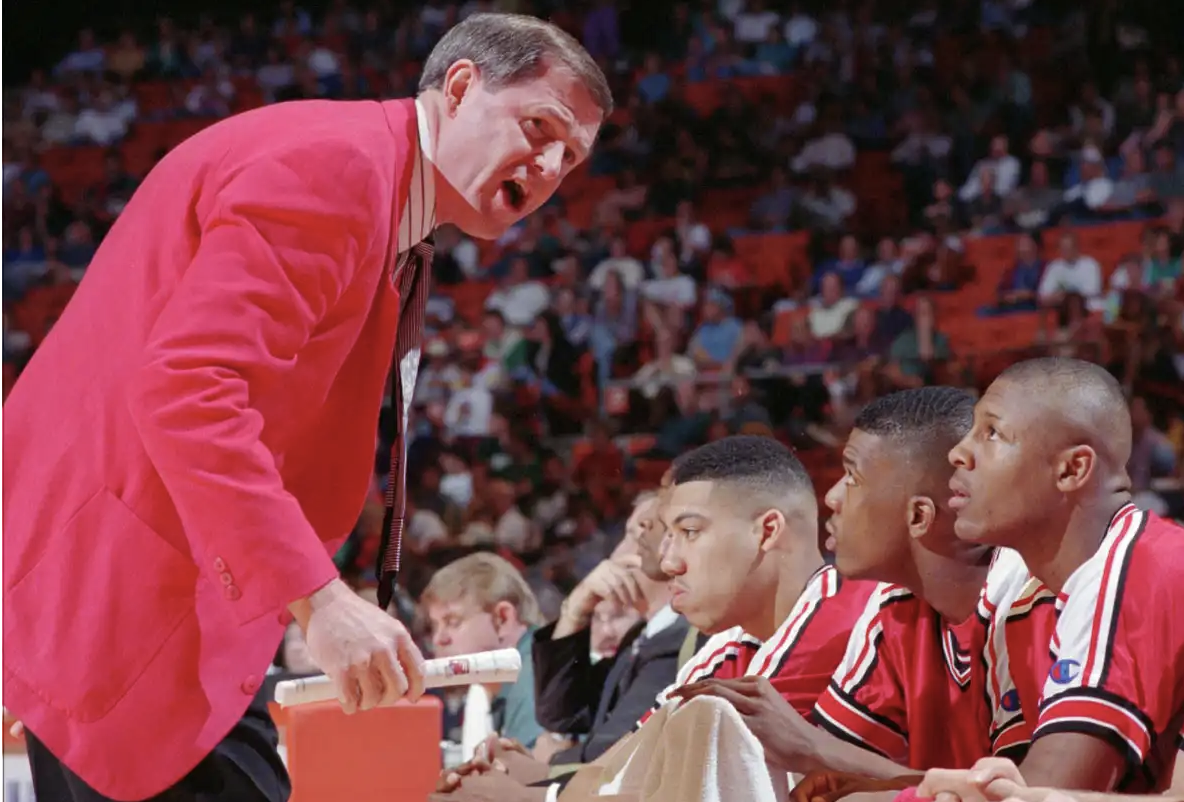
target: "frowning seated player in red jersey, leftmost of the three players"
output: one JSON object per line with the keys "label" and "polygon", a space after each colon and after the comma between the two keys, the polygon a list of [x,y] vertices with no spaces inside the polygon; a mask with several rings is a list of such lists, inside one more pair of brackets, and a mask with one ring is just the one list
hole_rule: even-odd
{"label": "frowning seated player in red jersey, leftmost of the three players", "polygon": [[[809,711],[874,584],[841,580],[823,565],[817,498],[802,463],[771,438],[715,441],[675,461],[659,518],[668,530],[662,567],[673,577],[671,604],[713,635],[680,679],[760,673]],[[513,775],[521,756],[490,757]],[[594,788],[599,775],[598,765],[585,766],[573,785]],[[448,795],[455,798],[485,793],[506,802],[545,800],[548,790],[515,784],[500,771],[455,776],[444,788],[455,789]]]}

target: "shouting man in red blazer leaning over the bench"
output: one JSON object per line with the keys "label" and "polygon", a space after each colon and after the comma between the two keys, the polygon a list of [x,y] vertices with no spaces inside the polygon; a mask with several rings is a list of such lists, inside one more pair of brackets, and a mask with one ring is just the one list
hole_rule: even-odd
{"label": "shouting man in red blazer leaning over the bench", "polygon": [[4,410],[4,692],[39,798],[284,797],[244,711],[291,617],[347,712],[422,693],[330,559],[397,331],[414,383],[401,271],[436,225],[535,211],[611,105],[574,39],[477,14],[414,101],[250,111],[153,169]]}

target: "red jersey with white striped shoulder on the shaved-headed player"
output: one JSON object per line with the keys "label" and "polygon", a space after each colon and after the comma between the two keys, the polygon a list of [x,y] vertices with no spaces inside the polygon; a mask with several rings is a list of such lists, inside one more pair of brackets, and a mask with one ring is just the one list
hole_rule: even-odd
{"label": "red jersey with white striped shoulder on the shaved-headed player", "polygon": [[1035,738],[1096,736],[1126,757],[1118,790],[1165,790],[1184,726],[1184,528],[1126,505],[1056,607]]}

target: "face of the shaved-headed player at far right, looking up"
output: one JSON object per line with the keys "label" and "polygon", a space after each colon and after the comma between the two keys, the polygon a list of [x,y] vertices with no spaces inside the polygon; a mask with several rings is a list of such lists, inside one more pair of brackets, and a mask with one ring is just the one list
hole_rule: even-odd
{"label": "face of the shaved-headed player at far right, looking up", "polygon": [[950,451],[959,539],[1015,547],[1061,503],[1061,432],[1055,421],[1041,419],[1042,409],[1038,397],[1008,379],[997,379],[974,405],[974,426]]}

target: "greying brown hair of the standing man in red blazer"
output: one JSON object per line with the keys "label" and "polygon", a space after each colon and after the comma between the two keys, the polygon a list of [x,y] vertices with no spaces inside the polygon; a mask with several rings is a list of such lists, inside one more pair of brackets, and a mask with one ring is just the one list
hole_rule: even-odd
{"label": "greying brown hair of the standing man in red blazer", "polygon": [[472,14],[436,43],[424,63],[419,91],[443,89],[444,75],[457,62],[476,64],[491,90],[539,77],[548,64],[571,70],[607,117],[612,90],[604,71],[579,41],[562,28],[525,14]]}

